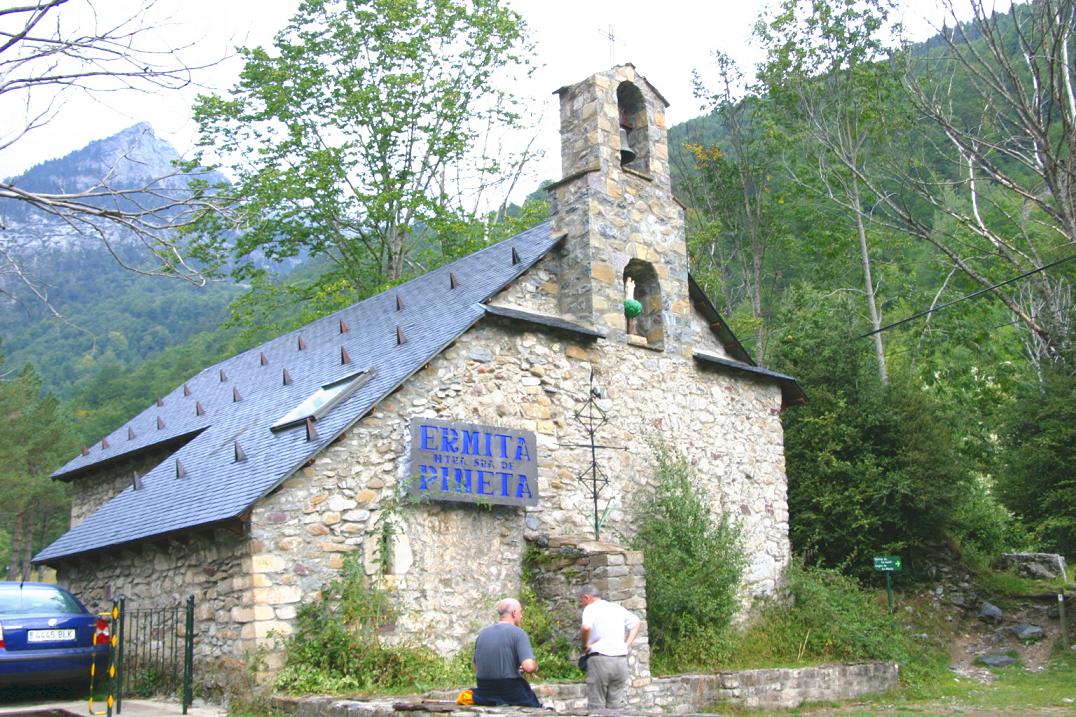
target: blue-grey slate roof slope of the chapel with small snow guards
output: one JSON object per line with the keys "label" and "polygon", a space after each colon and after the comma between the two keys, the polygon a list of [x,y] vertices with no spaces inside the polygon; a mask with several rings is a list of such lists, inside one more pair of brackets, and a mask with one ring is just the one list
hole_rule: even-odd
{"label": "blue-grey slate roof slope of the chapel with small snow guards", "polygon": [[[194,436],[139,490],[125,489],[33,562],[243,515],[472,326],[482,303],[560,239],[540,224],[200,371],[53,474],[74,479]],[[318,388],[358,370],[372,378],[314,424],[316,438],[305,425],[270,431]]]}

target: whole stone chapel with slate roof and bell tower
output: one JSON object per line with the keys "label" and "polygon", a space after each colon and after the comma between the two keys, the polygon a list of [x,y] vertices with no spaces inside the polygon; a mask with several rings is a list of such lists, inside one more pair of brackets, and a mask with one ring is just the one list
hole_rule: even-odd
{"label": "whole stone chapel with slate roof and bell tower", "polygon": [[451,653],[518,594],[528,540],[600,519],[598,549],[629,543],[660,441],[742,525],[745,600],[773,591],[804,393],[691,278],[661,94],[622,65],[556,95],[548,222],[190,377],[54,474],[71,529],[34,562],[91,607],[195,595],[199,659],[227,667],[354,556],[391,638]]}

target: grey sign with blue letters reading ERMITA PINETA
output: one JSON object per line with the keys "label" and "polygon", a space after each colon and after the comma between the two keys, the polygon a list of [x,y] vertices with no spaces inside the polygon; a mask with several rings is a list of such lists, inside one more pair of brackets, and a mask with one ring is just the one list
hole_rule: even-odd
{"label": "grey sign with blue letters reading ERMITA PINETA", "polygon": [[413,497],[538,505],[535,434],[458,421],[411,419]]}

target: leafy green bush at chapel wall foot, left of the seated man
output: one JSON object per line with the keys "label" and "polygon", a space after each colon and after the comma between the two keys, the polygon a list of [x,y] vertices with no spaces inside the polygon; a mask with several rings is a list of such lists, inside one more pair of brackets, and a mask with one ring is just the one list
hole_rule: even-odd
{"label": "leafy green bush at chapel wall foot, left of the seated man", "polygon": [[469,657],[443,659],[425,647],[386,646],[379,632],[393,619],[354,558],[303,603],[285,643],[277,687],[287,692],[398,692],[452,687],[471,679]]}

